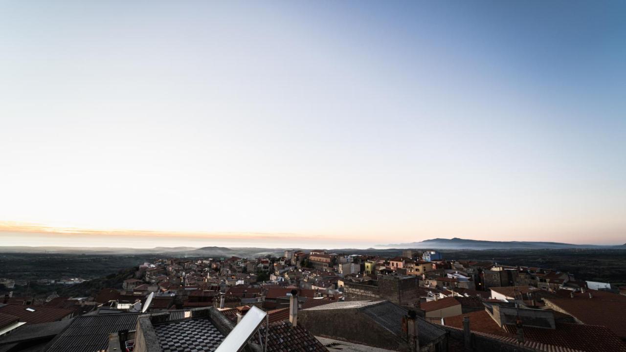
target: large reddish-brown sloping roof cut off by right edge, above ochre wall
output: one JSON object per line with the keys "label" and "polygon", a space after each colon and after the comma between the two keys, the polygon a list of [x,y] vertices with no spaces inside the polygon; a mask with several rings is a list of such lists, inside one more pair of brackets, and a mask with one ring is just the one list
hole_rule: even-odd
{"label": "large reddish-brown sloping roof cut off by right edge, above ochre wall", "polygon": [[606,326],[620,338],[626,338],[626,301],[546,298],[544,302],[584,324]]}

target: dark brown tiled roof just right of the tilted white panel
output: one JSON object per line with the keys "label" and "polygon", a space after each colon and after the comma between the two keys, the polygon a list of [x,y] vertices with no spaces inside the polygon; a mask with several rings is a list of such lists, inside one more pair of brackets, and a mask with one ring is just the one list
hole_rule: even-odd
{"label": "dark brown tiled roof just right of the tilted white panel", "polygon": [[[259,331],[261,336],[265,334],[265,326]],[[267,352],[327,352],[309,330],[302,326],[292,326],[285,321],[270,323],[269,336],[267,338]]]}

